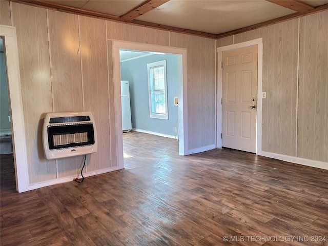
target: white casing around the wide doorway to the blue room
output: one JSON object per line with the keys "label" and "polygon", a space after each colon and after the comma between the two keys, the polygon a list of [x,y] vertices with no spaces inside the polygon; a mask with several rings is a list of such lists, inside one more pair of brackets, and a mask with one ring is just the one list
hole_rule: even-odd
{"label": "white casing around the wide doorway to the blue room", "polygon": [[[178,69],[179,74],[178,81],[178,137],[179,137],[179,155],[185,155],[187,153],[188,143],[188,115],[187,115],[187,49],[141,44],[126,42],[120,40],[112,40],[113,50],[113,75],[114,75],[114,101],[115,101],[115,124],[116,129],[122,128],[122,116],[121,116],[121,97],[120,97],[120,60],[119,50],[138,50],[138,51],[151,51],[160,53],[170,53],[181,55],[178,59],[179,63],[182,64],[182,69]],[[181,71],[182,70],[182,71]],[[121,131],[116,132],[116,144],[117,144],[117,156],[118,166],[124,167],[123,159],[123,136]]]}

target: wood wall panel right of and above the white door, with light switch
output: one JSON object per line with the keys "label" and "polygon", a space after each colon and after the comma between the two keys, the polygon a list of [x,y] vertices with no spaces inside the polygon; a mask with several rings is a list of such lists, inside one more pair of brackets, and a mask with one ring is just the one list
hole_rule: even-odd
{"label": "wood wall panel right of and above the white door, with light switch", "polygon": [[236,34],[263,38],[262,150],[295,156],[298,20]]}

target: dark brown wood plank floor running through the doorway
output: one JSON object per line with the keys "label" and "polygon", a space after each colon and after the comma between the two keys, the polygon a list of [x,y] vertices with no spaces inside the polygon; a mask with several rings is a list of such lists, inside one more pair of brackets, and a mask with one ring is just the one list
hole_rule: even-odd
{"label": "dark brown wood plank floor running through the doorway", "polygon": [[144,133],[124,144],[124,170],[20,194],[1,156],[1,245],[328,245],[327,170],[229,149],[182,157]]}

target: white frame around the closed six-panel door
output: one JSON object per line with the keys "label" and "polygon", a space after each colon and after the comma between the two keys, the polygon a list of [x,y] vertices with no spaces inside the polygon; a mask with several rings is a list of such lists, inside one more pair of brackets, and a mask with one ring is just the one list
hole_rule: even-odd
{"label": "white frame around the closed six-panel door", "polygon": [[262,38],[257,38],[243,43],[219,47],[217,52],[217,148],[222,148],[222,52],[231,51],[257,45],[257,112],[256,112],[256,154],[262,153],[262,70],[263,70],[263,43]]}

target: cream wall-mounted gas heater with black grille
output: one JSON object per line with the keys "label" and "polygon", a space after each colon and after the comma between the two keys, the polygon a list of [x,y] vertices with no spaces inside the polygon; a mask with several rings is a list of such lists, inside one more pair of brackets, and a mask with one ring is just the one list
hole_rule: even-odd
{"label": "cream wall-mounted gas heater with black grille", "polygon": [[91,112],[46,114],[43,147],[48,160],[96,152],[97,132]]}

